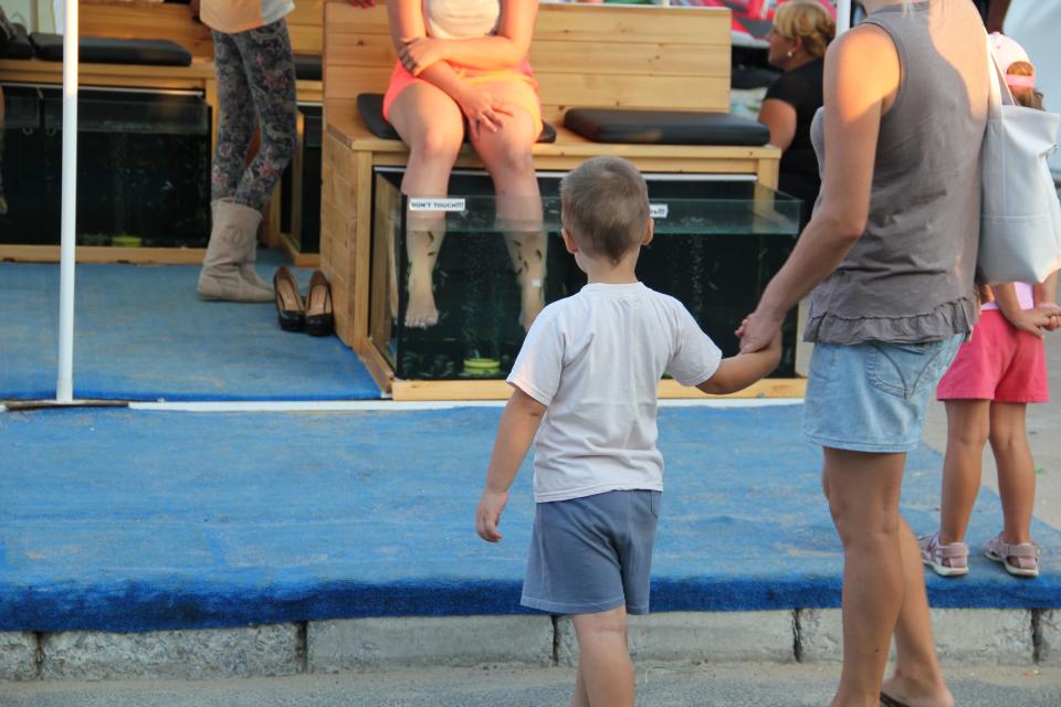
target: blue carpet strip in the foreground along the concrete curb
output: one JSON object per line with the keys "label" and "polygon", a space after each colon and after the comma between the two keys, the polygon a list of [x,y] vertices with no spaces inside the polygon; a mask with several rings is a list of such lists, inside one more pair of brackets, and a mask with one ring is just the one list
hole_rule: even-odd
{"label": "blue carpet strip in the foreground along the concrete curb", "polygon": [[[0,414],[0,631],[147,631],[298,620],[522,613],[533,498],[505,539],[472,529],[500,411]],[[653,611],[837,606],[839,541],[799,407],[671,408]],[[935,527],[939,455],[911,456],[904,513]],[[970,542],[1001,524],[984,494]],[[975,558],[931,576],[937,606],[1061,605],[1044,572]]]}

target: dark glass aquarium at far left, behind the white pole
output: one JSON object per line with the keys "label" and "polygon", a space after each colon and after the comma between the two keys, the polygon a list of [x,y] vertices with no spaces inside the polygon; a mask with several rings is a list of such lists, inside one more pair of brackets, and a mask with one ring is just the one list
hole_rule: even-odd
{"label": "dark glass aquarium at far left, behind the white pole", "polygon": [[[4,85],[0,243],[57,244],[62,91]],[[210,217],[210,107],[188,92],[78,97],[77,243],[203,247]]]}

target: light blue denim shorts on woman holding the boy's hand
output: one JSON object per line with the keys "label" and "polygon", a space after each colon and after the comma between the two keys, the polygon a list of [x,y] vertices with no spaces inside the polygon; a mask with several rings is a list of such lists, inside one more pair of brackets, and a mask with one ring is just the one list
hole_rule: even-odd
{"label": "light blue denim shorts on woman holding the boy's hand", "polygon": [[921,441],[936,383],[965,339],[816,344],[803,401],[803,434],[854,452],[911,452]]}

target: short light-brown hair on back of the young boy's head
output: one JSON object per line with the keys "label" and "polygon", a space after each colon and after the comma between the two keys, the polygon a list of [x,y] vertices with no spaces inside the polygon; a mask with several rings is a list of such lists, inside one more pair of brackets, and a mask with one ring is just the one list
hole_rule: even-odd
{"label": "short light-brown hair on back of the young boy's head", "polygon": [[644,238],[649,189],[629,161],[593,157],[560,180],[560,208],[578,247],[618,264]]}

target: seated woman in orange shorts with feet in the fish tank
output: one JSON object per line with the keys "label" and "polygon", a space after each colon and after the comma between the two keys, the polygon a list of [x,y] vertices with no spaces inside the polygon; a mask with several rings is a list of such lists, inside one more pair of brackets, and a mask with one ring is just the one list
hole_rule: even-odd
{"label": "seated woman in orange shorts with feet in the fish tank", "polygon": [[[444,197],[464,140],[494,181],[498,228],[522,289],[521,324],[544,306],[546,236],[530,147],[542,131],[537,84],[527,50],[536,0],[392,0],[387,6],[398,64],[384,116],[409,146],[401,191]],[[431,275],[444,236],[444,214],[410,212],[409,306],[406,326],[439,320]]]}

